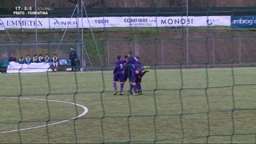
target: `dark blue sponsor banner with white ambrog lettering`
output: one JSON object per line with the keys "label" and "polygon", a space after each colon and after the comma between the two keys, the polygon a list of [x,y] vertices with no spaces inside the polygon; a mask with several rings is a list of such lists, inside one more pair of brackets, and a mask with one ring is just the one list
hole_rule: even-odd
{"label": "dark blue sponsor banner with white ambrog lettering", "polygon": [[256,16],[231,16],[231,28],[256,28]]}

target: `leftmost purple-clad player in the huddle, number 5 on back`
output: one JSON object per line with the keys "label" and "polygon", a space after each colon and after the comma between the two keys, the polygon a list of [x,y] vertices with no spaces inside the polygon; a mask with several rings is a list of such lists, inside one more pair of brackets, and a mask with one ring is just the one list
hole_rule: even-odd
{"label": "leftmost purple-clad player in the huddle, number 5 on back", "polygon": [[117,86],[116,86],[116,82],[120,82],[120,95],[123,95],[123,88],[124,88],[124,75],[123,75],[123,70],[124,70],[124,63],[126,63],[126,60],[121,60],[121,56],[118,55],[117,56],[117,61],[115,62],[115,70],[113,72],[114,74],[114,78],[113,78],[113,84],[114,84],[114,89],[115,89],[115,93],[114,95],[117,94]]}

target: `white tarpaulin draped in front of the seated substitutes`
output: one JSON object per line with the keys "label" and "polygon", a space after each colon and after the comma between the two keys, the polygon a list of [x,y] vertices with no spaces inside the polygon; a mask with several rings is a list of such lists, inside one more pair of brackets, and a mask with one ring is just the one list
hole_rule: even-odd
{"label": "white tarpaulin draped in front of the seated substitutes", "polygon": [[19,64],[11,61],[7,67],[7,73],[40,73],[40,72],[52,72],[50,68],[51,63],[31,63],[31,64]]}

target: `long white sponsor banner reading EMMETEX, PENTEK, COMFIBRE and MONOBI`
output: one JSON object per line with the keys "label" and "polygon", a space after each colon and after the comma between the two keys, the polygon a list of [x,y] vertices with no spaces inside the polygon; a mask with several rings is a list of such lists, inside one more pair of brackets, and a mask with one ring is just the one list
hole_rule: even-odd
{"label": "long white sponsor banner reading EMMETEX, PENTEK, COMFIBRE and MONOBI", "polygon": [[0,27],[5,28],[202,27],[230,26],[231,16],[92,17],[83,21],[82,18],[0,19]]}

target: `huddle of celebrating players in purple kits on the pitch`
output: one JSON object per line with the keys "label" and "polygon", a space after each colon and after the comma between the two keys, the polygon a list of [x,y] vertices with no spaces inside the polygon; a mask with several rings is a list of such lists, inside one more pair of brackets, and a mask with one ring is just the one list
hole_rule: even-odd
{"label": "huddle of celebrating players in purple kits on the pitch", "polygon": [[[115,65],[116,67],[113,72],[113,84],[115,89],[114,95],[118,93],[116,86],[116,82],[118,82],[118,80],[120,82],[120,95],[123,95],[124,83],[127,81],[127,79],[129,79],[130,82],[130,93],[132,95],[143,94],[140,85],[141,78],[146,72],[151,71],[149,66],[142,67],[140,58],[134,57],[132,52],[128,52],[127,55],[124,56],[124,60],[122,60],[121,56],[118,55]],[[132,92],[132,89],[134,92]]]}

